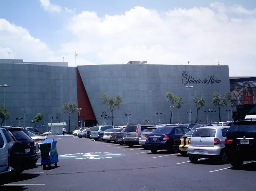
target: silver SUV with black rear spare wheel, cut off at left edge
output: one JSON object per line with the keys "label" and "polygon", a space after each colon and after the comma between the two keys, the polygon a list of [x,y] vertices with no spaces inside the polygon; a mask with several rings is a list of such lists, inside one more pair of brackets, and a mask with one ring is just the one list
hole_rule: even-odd
{"label": "silver SUV with black rear spare wheel, cut off at left edge", "polygon": [[23,157],[22,144],[6,128],[0,127],[0,185],[21,172]]}

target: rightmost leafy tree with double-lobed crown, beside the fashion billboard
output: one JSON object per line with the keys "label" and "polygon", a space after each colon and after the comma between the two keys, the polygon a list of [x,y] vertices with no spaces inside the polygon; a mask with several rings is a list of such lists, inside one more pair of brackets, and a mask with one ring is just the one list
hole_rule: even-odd
{"label": "rightmost leafy tree with double-lobed crown, beside the fashion billboard", "polygon": [[231,103],[232,101],[234,101],[234,98],[232,98],[231,96],[231,92],[230,91],[226,91],[224,94],[224,97],[221,97],[221,94],[219,92],[214,92],[212,94],[212,104],[214,105],[218,105],[218,109],[219,109],[219,119],[221,122],[221,118],[220,118],[220,107],[224,107],[224,106],[228,106],[229,103]]}

